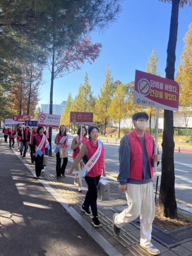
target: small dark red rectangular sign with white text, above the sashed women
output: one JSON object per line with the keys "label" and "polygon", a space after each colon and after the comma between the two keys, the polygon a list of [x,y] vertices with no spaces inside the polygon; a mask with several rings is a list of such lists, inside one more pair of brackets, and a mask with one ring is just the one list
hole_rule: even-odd
{"label": "small dark red rectangular sign with white text, above the sashed women", "polygon": [[93,122],[92,112],[70,112],[70,123],[88,124]]}

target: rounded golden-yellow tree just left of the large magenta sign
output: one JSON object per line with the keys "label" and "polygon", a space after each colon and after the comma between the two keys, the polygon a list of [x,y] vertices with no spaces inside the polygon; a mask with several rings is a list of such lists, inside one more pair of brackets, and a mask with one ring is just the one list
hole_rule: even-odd
{"label": "rounded golden-yellow tree just left of the large magenta sign", "polygon": [[117,85],[117,89],[114,92],[113,99],[111,100],[110,106],[108,108],[108,114],[114,122],[119,124],[119,134],[120,138],[120,122],[127,116],[127,86],[123,84]]}

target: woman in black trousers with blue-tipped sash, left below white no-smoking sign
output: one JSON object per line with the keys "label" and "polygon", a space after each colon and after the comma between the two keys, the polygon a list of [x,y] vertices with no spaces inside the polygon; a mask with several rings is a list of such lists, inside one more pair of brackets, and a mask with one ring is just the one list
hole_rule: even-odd
{"label": "woman in black trousers with blue-tipped sash, left below white no-smoking sign", "polygon": [[43,166],[43,157],[45,154],[46,135],[43,134],[43,126],[38,126],[36,134],[33,136],[33,156],[35,157],[36,179],[39,179]]}

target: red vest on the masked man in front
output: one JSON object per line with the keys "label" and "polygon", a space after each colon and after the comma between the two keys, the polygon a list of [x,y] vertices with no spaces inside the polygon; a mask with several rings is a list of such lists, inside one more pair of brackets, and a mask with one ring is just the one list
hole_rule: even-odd
{"label": "red vest on the masked man in front", "polygon": [[[138,137],[136,131],[127,134],[130,146],[130,179],[142,181],[142,169],[143,169],[143,148],[142,142]],[[151,178],[153,178],[153,167],[151,164],[151,158],[153,156],[153,137],[144,133],[145,146],[147,151],[147,158],[149,162],[149,169],[151,172]]]}

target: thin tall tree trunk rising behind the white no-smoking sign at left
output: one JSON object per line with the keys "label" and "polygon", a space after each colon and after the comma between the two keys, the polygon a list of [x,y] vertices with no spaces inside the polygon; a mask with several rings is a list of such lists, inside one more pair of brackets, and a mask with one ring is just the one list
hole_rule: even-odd
{"label": "thin tall tree trunk rising behind the white no-smoking sign at left", "polygon": [[[53,83],[54,83],[54,66],[55,66],[55,45],[53,43],[53,52],[52,52],[52,70],[51,70],[51,87],[50,87],[50,102],[49,102],[49,114],[53,113]],[[50,150],[49,156],[52,156],[52,146],[51,146],[51,138],[52,138],[52,127],[49,127],[49,138],[50,138]]]}

